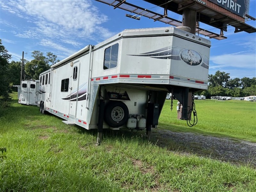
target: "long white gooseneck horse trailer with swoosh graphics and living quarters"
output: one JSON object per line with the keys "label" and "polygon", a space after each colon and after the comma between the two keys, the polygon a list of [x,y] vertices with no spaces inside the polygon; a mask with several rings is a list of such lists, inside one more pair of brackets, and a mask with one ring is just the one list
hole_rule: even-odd
{"label": "long white gooseneck horse trailer with swoosh graphics and living quarters", "polygon": [[[39,102],[85,129],[158,124],[167,92],[188,113],[188,93],[207,89],[210,41],[173,27],[129,29],[88,45],[40,74]],[[185,110],[184,110],[185,109]]]}

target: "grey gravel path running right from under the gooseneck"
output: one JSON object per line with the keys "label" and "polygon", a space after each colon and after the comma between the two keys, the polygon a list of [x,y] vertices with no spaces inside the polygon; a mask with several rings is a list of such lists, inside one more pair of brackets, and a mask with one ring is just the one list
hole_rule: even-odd
{"label": "grey gravel path running right from under the gooseneck", "polygon": [[[256,143],[187,132],[172,132],[169,130],[158,130],[157,132],[159,138],[172,140],[183,146],[185,151],[221,161],[249,164],[256,167]],[[162,144],[160,142],[159,145]]]}

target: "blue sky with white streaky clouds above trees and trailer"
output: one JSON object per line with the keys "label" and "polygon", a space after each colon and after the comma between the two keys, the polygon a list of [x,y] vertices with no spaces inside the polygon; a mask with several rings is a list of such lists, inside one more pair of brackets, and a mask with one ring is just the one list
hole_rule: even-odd
{"label": "blue sky with white streaky clouds above trees and trailer", "polygon": [[[127,0],[150,9],[154,7],[141,0]],[[162,13],[155,7],[151,11]],[[95,45],[116,33],[130,28],[166,27],[162,22],[141,17],[140,20],[125,17],[131,14],[113,9],[94,0],[32,1],[0,0],[0,38],[12,55],[11,60],[31,60],[31,52],[52,52],[62,60],[88,44]],[[250,0],[249,15],[256,17],[256,1]],[[168,12],[168,16],[182,20],[182,16]],[[256,21],[247,21],[256,27]],[[219,30],[200,24],[201,28]],[[234,33],[229,26],[225,40],[211,39],[209,74],[217,70],[230,73],[231,78],[256,76],[256,33]],[[206,37],[207,38],[207,37]]]}

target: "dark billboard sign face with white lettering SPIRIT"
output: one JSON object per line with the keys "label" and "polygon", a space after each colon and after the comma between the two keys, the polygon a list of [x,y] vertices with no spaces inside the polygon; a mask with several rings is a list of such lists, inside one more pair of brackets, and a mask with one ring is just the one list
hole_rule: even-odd
{"label": "dark billboard sign face with white lettering SPIRIT", "polygon": [[224,9],[245,18],[249,12],[249,0],[208,0]]}

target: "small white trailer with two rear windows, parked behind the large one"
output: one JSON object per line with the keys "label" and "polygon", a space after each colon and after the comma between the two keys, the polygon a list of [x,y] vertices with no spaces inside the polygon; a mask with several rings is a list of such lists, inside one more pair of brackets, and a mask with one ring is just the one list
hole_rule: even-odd
{"label": "small white trailer with two rear windows, parked behind the large one", "polygon": [[37,105],[38,101],[38,80],[23,80],[21,81],[21,91],[19,103],[24,105]]}

